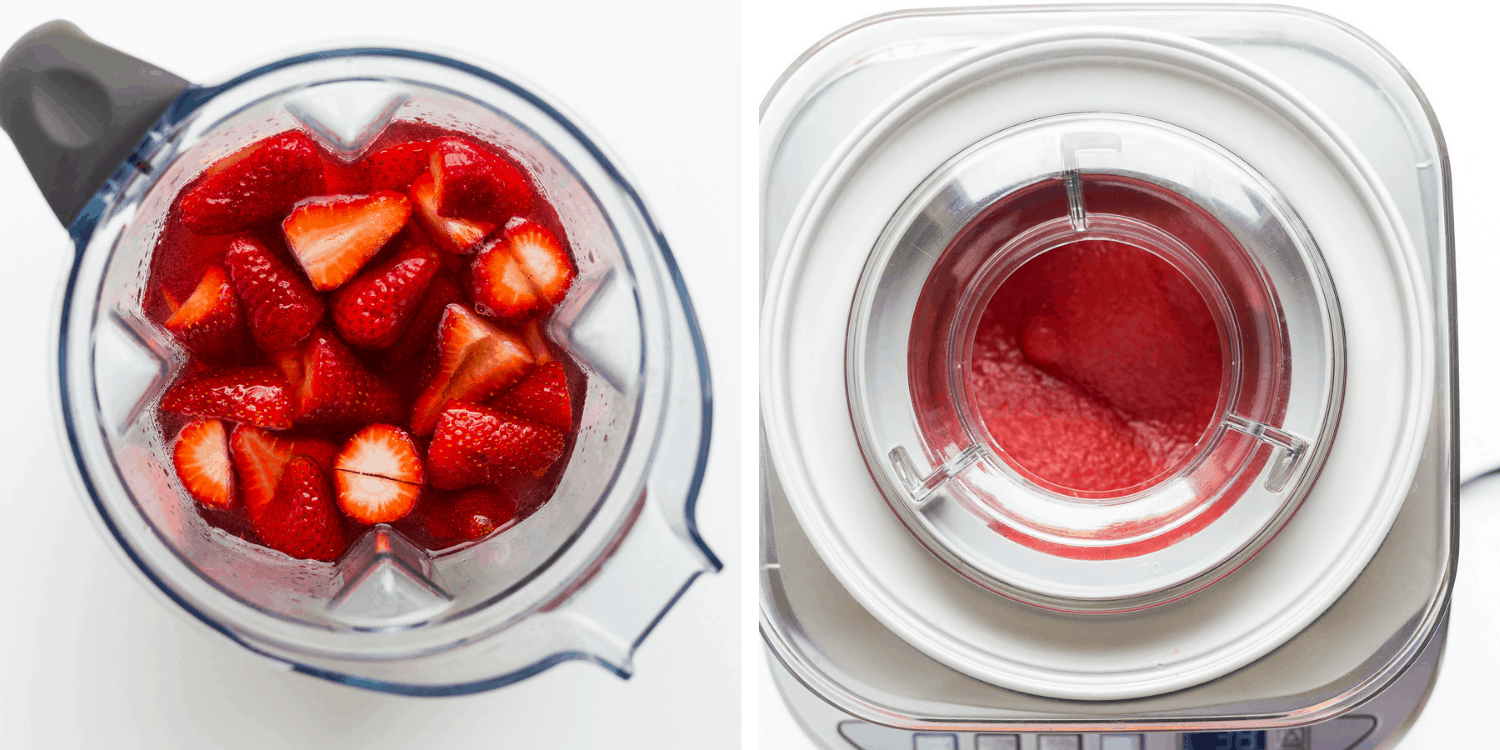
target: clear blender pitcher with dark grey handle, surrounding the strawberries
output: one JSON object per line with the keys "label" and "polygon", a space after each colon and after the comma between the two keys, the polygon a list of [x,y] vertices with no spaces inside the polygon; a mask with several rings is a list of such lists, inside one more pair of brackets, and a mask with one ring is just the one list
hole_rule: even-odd
{"label": "clear blender pitcher with dark grey handle, surrounding the strawberries", "polygon": [[[585,658],[620,676],[718,560],[694,504],[708,454],[706,354],[666,240],[598,142],[507,75],[422,51],[300,54],[189,84],[42,26],[0,63],[3,124],[69,230],[56,398],[105,537],[166,598],[291,669],[460,694]],[[142,306],[178,190],[261,136],[300,129],[357,159],[393,123],[498,146],[562,224],[578,282],[546,324],[584,370],[556,490],[519,524],[434,554],[375,525],[334,564],[210,526],[170,470],[156,404],[186,352]]]}

